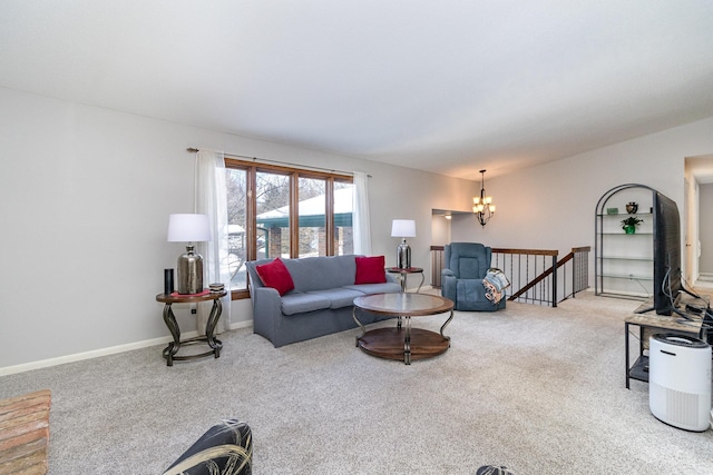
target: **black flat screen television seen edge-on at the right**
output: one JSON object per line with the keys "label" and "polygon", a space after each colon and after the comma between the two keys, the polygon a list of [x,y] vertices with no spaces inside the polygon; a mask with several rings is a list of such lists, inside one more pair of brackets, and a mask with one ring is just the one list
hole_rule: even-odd
{"label": "black flat screen television seen edge-on at the right", "polygon": [[671,315],[680,294],[686,291],[681,277],[681,218],[676,202],[654,192],[654,310]]}

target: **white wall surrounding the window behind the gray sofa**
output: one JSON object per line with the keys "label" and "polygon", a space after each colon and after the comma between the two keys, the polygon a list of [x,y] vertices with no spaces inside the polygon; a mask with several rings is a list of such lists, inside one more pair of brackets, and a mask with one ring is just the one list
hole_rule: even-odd
{"label": "white wall surrounding the window behind the gray sofa", "polygon": [[[162,344],[172,212],[193,210],[205,147],[372,176],[374,255],[395,264],[391,220],[417,220],[412,261],[430,263],[431,209],[467,206],[472,182],[0,88],[0,375]],[[394,186],[399,184],[399,186]],[[430,271],[428,269],[427,271]],[[250,324],[250,301],[233,303]],[[195,330],[186,310],[182,330]],[[156,357],[160,358],[157,349]]]}

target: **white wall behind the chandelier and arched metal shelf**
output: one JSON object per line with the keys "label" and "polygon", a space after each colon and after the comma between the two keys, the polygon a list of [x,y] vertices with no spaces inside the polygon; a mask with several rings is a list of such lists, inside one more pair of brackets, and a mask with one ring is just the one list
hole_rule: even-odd
{"label": "white wall behind the chandelier and arched metal shelf", "polygon": [[594,285],[594,215],[599,197],[617,185],[647,185],[674,199],[683,217],[685,157],[712,151],[713,118],[709,118],[486,180],[496,216],[485,228],[475,219],[453,219],[452,239],[557,249],[560,257],[573,247],[592,246]]}

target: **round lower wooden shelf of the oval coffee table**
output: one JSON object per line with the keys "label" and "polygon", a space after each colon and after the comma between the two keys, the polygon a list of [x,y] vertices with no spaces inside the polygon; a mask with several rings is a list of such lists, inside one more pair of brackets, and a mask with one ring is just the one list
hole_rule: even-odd
{"label": "round lower wooden shelf of the oval coffee table", "polygon": [[406,329],[403,328],[377,328],[358,338],[356,344],[369,355],[402,360],[407,365],[411,360],[430,358],[446,353],[450,346],[448,338],[422,328],[411,328],[410,345],[406,345],[404,338]]}

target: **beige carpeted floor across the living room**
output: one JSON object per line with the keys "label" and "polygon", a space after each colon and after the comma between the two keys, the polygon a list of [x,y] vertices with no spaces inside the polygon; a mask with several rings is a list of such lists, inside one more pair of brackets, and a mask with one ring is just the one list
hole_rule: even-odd
{"label": "beige carpeted floor across the living room", "polygon": [[229,416],[252,427],[255,474],[713,473],[713,432],[665,425],[647,384],[625,388],[637,306],[583,293],[457,313],[451,348],[410,366],[355,348],[356,329],[277,349],[243,329],[218,359],[169,368],[145,348],[0,377],[0,397],[52,390],[50,475],[159,474]]}

